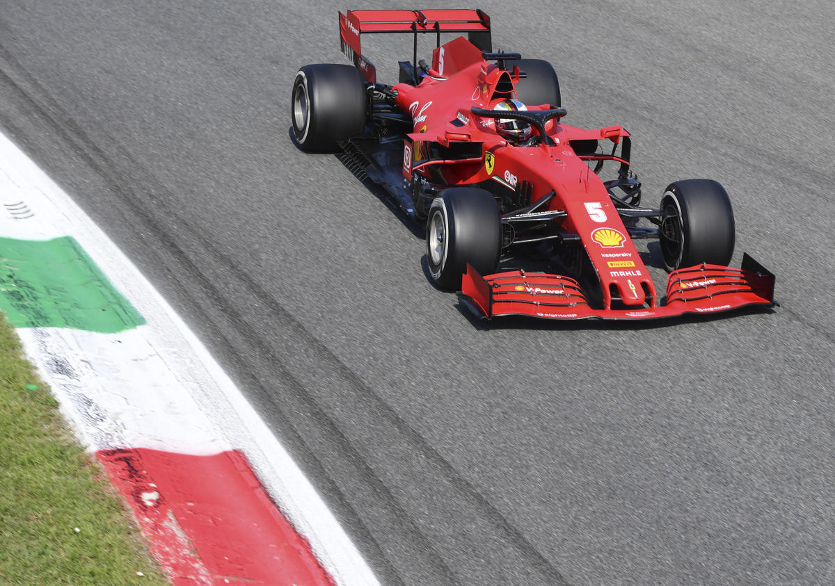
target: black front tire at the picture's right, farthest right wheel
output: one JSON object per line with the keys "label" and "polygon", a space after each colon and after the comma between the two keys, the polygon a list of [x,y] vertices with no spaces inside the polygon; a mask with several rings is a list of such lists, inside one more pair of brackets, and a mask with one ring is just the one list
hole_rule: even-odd
{"label": "black front tire at the picture's right, farthest right wheel", "polygon": [[731,200],[721,184],[712,179],[676,181],[665,189],[660,208],[666,270],[731,262],[736,226]]}

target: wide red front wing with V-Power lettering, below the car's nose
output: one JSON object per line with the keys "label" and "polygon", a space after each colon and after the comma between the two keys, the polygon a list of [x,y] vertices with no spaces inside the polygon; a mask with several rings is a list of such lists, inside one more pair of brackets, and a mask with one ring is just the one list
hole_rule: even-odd
{"label": "wide red front wing with V-Power lettering, below the car's nose", "polygon": [[686,313],[714,314],[745,306],[775,306],[774,275],[749,255],[739,269],[696,265],[674,270],[664,306],[595,309],[579,283],[567,276],[511,270],[482,276],[471,265],[458,297],[482,318],[531,316],[554,320],[647,320]]}

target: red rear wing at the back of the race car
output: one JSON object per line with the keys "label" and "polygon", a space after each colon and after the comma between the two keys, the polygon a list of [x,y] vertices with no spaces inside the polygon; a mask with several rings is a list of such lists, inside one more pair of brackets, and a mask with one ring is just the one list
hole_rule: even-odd
{"label": "red rear wing at the back of the race car", "polygon": [[492,51],[490,17],[481,10],[348,10],[339,13],[339,44],[342,53],[351,59],[370,83],[377,81],[374,65],[362,56],[362,33],[413,33],[414,58],[417,70],[417,33],[435,33],[436,47],[441,46],[441,33],[467,33],[470,43],[482,51]]}

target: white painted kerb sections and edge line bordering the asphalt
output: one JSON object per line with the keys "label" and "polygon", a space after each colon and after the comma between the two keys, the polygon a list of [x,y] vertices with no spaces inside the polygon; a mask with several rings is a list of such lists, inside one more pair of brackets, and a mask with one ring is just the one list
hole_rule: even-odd
{"label": "white painted kerb sections and edge line bordering the asphalt", "polygon": [[[65,373],[58,387],[68,395],[75,393],[79,401],[91,401],[91,421],[79,424],[83,441],[94,449],[122,441],[139,444],[121,447],[159,449],[167,445],[170,449],[174,444],[197,450],[195,453],[220,452],[227,446],[239,449],[337,583],[378,584],[311,483],[180,316],[68,194],[0,134],[0,204],[18,202],[28,207],[31,217],[16,219],[0,208],[0,236],[25,240],[73,236],[148,322],[133,333],[107,335],[60,328],[18,330],[28,356],[42,371],[56,370],[56,363],[48,362],[50,353],[63,355],[72,367],[72,374]],[[100,341],[91,341],[94,336],[100,336]],[[122,359],[145,361],[157,375],[144,381],[137,371],[120,362],[114,350],[119,346],[130,349]],[[114,375],[114,371],[119,372]],[[139,387],[128,385],[128,379],[134,377],[139,377]],[[92,401],[89,395],[94,392]],[[170,411],[170,418],[161,419],[164,424],[154,423],[150,421],[153,417],[146,416],[146,409],[157,415]],[[93,431],[97,417],[107,420],[100,433]],[[183,418],[190,432],[170,429],[175,427],[172,419],[185,427]]]}

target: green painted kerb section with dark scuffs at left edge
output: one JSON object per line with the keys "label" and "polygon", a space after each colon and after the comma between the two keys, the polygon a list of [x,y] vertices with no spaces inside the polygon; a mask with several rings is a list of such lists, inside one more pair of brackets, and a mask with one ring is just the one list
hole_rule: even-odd
{"label": "green painted kerb section with dark scuffs at left edge", "polygon": [[70,236],[0,238],[0,309],[17,327],[114,333],[145,322]]}

